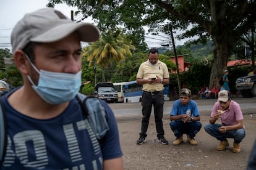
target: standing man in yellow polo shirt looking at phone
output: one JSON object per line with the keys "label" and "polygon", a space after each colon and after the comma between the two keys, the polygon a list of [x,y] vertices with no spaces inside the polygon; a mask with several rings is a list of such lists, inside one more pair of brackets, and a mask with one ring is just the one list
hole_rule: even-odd
{"label": "standing man in yellow polo shirt looking at phone", "polygon": [[169,71],[165,63],[158,60],[158,49],[150,49],[148,60],[140,65],[137,73],[137,83],[142,84],[142,127],[137,144],[146,142],[148,123],[151,115],[152,105],[156,123],[158,142],[168,145],[164,138],[163,129],[163,84],[169,83]]}

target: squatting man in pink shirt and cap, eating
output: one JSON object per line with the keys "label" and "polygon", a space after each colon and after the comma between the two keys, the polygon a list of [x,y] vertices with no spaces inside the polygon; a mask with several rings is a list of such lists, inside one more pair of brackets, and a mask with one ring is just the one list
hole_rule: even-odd
{"label": "squatting man in pink shirt and cap, eating", "polygon": [[[221,119],[221,124],[216,120]],[[205,124],[205,131],[220,140],[217,150],[224,150],[229,146],[227,138],[233,138],[233,152],[240,153],[240,143],[245,137],[242,110],[237,102],[231,100],[229,91],[218,93],[218,102],[213,106],[209,123]]]}

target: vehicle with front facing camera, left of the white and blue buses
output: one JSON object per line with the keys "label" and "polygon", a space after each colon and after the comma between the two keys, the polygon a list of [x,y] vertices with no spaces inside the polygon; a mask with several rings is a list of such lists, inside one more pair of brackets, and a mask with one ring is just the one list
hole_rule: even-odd
{"label": "vehicle with front facing camera, left of the white and blue buses", "polygon": [[109,103],[118,102],[118,94],[114,91],[114,84],[113,83],[98,83],[95,86],[94,94],[99,99],[105,100]]}

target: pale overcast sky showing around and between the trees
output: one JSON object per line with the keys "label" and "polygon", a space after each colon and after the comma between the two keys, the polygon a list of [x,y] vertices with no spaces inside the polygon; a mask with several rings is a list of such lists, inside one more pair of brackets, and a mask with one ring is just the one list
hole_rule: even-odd
{"label": "pale overcast sky showing around and between the trees", "polygon": [[[8,48],[11,50],[11,31],[20,18],[28,12],[46,7],[47,0],[0,0],[0,48]],[[74,7],[69,7],[66,4],[59,4],[55,6],[64,15],[70,18],[70,11],[76,10]],[[90,22],[86,20],[84,22]],[[147,34],[146,42],[149,47],[160,47],[161,44],[168,44],[169,36],[160,34],[160,36],[153,36]],[[175,41],[176,46],[184,44],[184,41]]]}

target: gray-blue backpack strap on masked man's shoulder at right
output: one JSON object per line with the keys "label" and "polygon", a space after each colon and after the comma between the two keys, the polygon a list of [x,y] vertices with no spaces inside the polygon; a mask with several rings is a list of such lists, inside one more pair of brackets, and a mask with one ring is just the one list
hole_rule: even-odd
{"label": "gray-blue backpack strap on masked man's shoulder at right", "polygon": [[83,113],[87,116],[96,138],[101,143],[100,140],[103,140],[109,129],[105,108],[101,105],[100,100],[94,96],[79,93],[76,98],[79,100]]}

